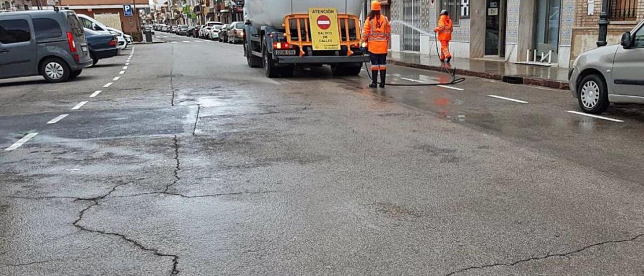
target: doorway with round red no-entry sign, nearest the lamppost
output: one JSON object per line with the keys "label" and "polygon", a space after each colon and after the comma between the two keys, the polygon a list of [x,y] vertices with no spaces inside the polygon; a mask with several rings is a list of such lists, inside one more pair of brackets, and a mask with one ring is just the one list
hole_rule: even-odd
{"label": "doorway with round red no-entry sign, nearest the lamppost", "polygon": [[537,0],[535,22],[535,48],[538,55],[553,51],[552,59],[557,60],[559,50],[559,23],[561,0]]}

